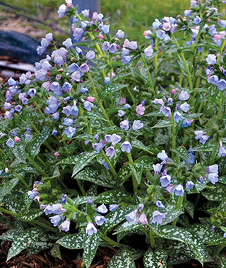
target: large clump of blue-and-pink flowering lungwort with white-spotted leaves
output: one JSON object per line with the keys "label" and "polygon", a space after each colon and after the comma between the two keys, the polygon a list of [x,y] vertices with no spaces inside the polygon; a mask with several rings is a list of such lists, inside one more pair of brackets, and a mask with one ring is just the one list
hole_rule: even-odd
{"label": "large clump of blue-and-pink flowering lungwort with white-spotted leaves", "polygon": [[102,13],[59,7],[80,43],[57,48],[48,33],[35,73],[1,84],[0,211],[16,218],[0,216],[12,225],[0,237],[13,241],[8,259],[26,248],[60,256],[61,245],[83,249],[90,267],[98,246],[113,246],[109,267],[142,255],[145,267],[226,267],[219,5],[191,0],[184,16],[155,19],[143,44],[111,33]]}

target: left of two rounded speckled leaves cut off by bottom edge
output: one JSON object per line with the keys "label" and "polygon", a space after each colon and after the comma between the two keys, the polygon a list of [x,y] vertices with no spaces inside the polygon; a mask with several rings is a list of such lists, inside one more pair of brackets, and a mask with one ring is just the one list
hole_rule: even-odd
{"label": "left of two rounded speckled leaves cut off by bottom edge", "polygon": [[107,268],[136,268],[131,252],[122,248],[109,261]]}

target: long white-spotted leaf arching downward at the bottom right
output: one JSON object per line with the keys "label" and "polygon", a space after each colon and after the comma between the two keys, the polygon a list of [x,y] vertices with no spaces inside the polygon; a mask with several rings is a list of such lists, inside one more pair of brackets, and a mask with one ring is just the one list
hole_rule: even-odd
{"label": "long white-spotted leaf arching downward at the bottom right", "polygon": [[197,259],[203,265],[206,250],[201,239],[198,238],[198,235],[191,233],[189,230],[172,225],[152,225],[152,227],[154,232],[161,238],[177,240],[189,245],[191,251],[194,253],[195,259]]}

